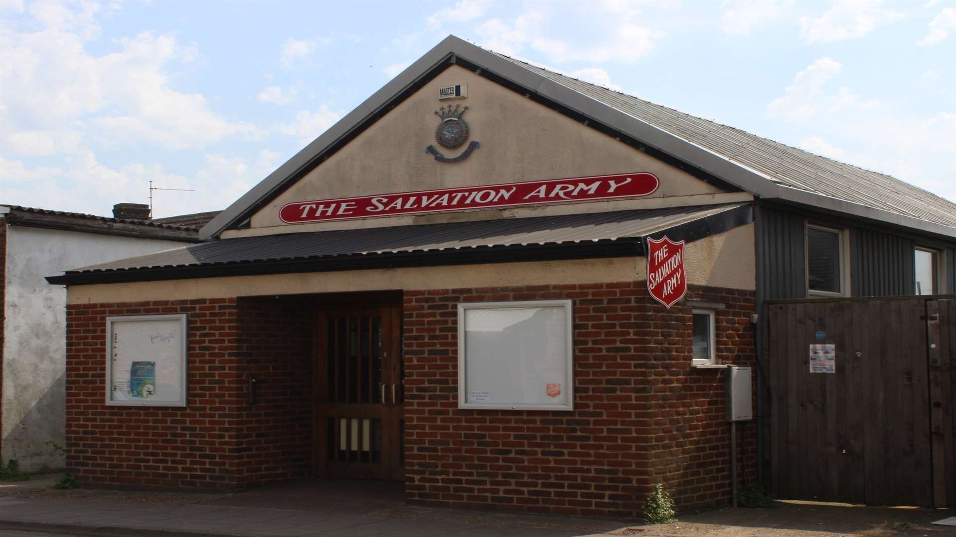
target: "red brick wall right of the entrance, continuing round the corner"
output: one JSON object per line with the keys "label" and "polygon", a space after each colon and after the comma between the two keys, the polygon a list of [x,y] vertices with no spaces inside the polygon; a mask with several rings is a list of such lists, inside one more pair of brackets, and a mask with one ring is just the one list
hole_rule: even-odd
{"label": "red brick wall right of the entrance, continuing round the corner", "polygon": [[[753,293],[692,288],[716,312],[718,355],[753,362]],[[409,500],[636,516],[654,483],[684,508],[727,505],[725,372],[691,369],[691,308],[643,282],[406,290],[405,460]],[[457,408],[459,302],[574,299],[575,411]],[[739,429],[752,481],[753,426]]]}

